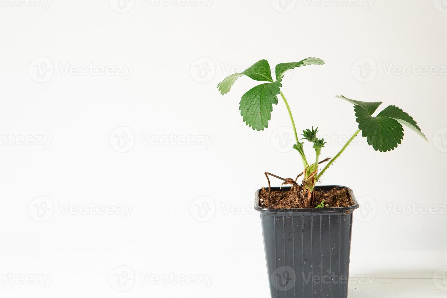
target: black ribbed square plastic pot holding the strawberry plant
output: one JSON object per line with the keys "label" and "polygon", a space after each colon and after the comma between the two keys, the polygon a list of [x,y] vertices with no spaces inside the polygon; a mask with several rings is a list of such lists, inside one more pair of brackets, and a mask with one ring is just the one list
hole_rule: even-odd
{"label": "black ribbed square plastic pot holding the strawberry plant", "polygon": [[318,209],[261,208],[257,190],[254,206],[261,213],[272,298],[347,297],[352,216],[358,203],[346,189],[353,206]]}

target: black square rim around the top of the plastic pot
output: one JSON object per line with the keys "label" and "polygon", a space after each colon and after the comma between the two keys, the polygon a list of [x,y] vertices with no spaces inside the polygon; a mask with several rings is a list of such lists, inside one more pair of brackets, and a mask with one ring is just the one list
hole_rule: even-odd
{"label": "black square rim around the top of the plastic pot", "polygon": [[[346,213],[350,213],[352,211],[354,211],[355,209],[357,209],[359,207],[357,200],[355,199],[354,196],[354,192],[352,191],[352,189],[350,189],[349,187],[346,186],[342,186],[342,185],[321,185],[321,186],[316,186],[316,188],[329,188],[329,187],[341,187],[341,188],[345,188],[348,190],[349,195],[352,198],[352,201],[354,201],[354,205],[349,206],[349,207],[330,207],[330,208],[290,208],[290,209],[269,209],[269,208],[263,208],[259,206],[259,192],[261,191],[261,189],[258,189],[255,192],[255,199],[254,199],[254,209],[259,211],[261,214],[264,215],[304,215],[304,214],[309,214],[309,215],[329,215],[329,214],[346,214]],[[272,190],[278,191],[278,190],[283,190],[283,189],[290,189],[290,187],[272,187]]]}

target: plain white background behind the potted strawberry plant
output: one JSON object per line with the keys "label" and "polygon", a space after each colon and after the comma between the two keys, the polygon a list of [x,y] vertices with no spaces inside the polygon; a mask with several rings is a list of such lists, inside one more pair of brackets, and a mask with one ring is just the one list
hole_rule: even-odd
{"label": "plain white background behind the potted strawberry plant", "polygon": [[380,153],[358,138],[323,176],[362,205],[350,297],[445,297],[445,0],[0,4],[2,297],[269,297],[254,192],[302,165],[282,101],[257,132],[238,103],[260,83],[216,85],[306,57],[326,64],[282,91],[322,156],[357,129],[338,94],[397,105],[430,139],[407,129]]}

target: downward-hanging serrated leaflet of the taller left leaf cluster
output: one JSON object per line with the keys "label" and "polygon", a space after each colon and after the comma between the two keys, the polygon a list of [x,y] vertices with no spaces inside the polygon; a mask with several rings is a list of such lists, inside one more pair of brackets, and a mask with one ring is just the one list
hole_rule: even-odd
{"label": "downward-hanging serrated leaflet of the taller left leaf cluster", "polygon": [[257,85],[246,92],[239,102],[240,115],[253,130],[264,130],[269,126],[273,105],[278,104],[277,95],[283,85],[281,80]]}

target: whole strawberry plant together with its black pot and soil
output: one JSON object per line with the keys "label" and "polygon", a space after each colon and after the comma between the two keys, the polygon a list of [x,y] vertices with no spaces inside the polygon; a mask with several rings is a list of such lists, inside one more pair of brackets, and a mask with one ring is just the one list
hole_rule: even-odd
{"label": "whole strawberry plant together with its black pot and soil", "polygon": [[[299,139],[281,87],[286,71],[322,64],[325,62],[318,58],[280,63],[275,67],[273,80],[269,63],[260,60],[247,70],[228,76],[217,86],[224,95],[240,76],[266,82],[242,95],[239,103],[242,119],[253,130],[264,130],[280,95],[295,134],[293,148],[303,163],[303,171],[295,179],[265,172],[268,189],[263,187],[255,193],[255,209],[261,214],[272,298],[347,297],[352,219],[358,203],[351,189],[335,185],[316,186],[316,182],[354,138],[362,132],[376,151],[391,151],[401,144],[405,126],[427,140],[413,118],[395,105],[388,105],[373,116],[382,102],[356,101],[340,95],[337,97],[354,106],[358,129],[333,158],[320,160],[325,140],[318,138],[318,129],[313,126],[303,130],[303,138]],[[304,142],[312,143],[314,159],[308,159],[304,153]],[[322,164],[325,166],[320,169]],[[291,186],[272,187],[269,176],[282,180],[282,185]],[[300,183],[298,179],[301,176]]]}

